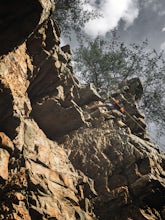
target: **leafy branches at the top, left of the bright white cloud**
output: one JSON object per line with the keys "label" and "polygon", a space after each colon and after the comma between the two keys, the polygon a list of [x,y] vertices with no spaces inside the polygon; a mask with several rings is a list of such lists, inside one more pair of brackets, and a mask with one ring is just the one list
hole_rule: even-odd
{"label": "leafy branches at the top, left of the bright white cloud", "polygon": [[70,38],[72,32],[82,34],[85,24],[99,16],[95,10],[85,7],[89,0],[54,0],[56,10],[54,17],[58,21],[65,37]]}

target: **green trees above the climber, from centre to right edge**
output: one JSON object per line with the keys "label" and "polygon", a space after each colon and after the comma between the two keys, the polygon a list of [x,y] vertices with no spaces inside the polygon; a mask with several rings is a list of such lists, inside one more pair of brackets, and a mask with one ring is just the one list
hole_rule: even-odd
{"label": "green trees above the climber, from centre to right edge", "polygon": [[148,121],[165,129],[165,60],[163,52],[148,49],[148,42],[126,45],[113,33],[111,41],[100,36],[86,39],[74,53],[75,72],[85,83],[113,90],[119,83],[138,76],[143,81],[142,108]]}

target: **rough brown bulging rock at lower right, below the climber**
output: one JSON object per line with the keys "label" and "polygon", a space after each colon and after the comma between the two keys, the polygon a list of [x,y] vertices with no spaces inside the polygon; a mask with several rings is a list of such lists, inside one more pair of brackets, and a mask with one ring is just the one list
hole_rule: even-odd
{"label": "rough brown bulging rock at lower right, below the climber", "polygon": [[79,129],[63,143],[74,167],[95,181],[95,213],[107,220],[163,219],[154,213],[165,201],[164,155],[150,142],[116,131],[111,120]]}

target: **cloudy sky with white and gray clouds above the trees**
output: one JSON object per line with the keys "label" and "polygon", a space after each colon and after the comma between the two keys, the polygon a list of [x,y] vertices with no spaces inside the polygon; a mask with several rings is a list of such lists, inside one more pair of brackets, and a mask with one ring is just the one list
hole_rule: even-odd
{"label": "cloudy sky with white and gray clouds above the trees", "polygon": [[91,37],[108,36],[117,28],[126,42],[147,38],[151,48],[165,49],[165,0],[90,0],[86,7],[97,8],[103,14],[86,25],[85,31]]}

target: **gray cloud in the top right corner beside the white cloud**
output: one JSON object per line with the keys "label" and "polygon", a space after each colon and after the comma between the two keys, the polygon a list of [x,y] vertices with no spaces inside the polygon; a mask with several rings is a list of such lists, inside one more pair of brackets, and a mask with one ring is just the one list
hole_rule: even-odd
{"label": "gray cloud in the top right corner beside the white cloud", "polygon": [[139,16],[127,30],[124,29],[124,22],[120,22],[119,35],[123,41],[128,43],[139,43],[148,39],[149,46],[159,51],[164,48],[165,42],[165,31],[162,31],[165,27],[165,1],[154,0],[146,1],[146,4],[144,1],[143,4],[140,3],[141,1],[139,1]]}

